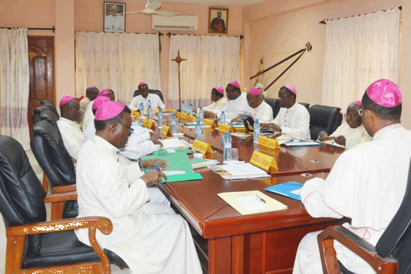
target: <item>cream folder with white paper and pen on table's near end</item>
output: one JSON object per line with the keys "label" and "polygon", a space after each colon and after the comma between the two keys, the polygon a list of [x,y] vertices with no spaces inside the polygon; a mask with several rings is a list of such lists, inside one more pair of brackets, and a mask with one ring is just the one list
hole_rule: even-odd
{"label": "cream folder with white paper and pen on table's near end", "polygon": [[258,190],[222,192],[218,195],[242,215],[285,210],[287,208],[283,203]]}

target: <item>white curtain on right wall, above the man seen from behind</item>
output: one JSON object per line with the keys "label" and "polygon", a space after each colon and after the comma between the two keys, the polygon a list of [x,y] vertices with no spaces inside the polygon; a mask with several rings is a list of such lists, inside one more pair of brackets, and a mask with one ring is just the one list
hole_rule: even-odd
{"label": "white curtain on right wall, above the man seen from behind", "polygon": [[398,81],[399,8],[327,21],[323,104],[360,100],[377,79]]}

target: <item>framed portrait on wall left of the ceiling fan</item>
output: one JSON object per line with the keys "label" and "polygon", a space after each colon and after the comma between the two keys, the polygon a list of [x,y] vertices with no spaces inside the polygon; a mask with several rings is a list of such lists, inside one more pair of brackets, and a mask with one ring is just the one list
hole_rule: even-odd
{"label": "framed portrait on wall left of the ceiling fan", "polygon": [[125,32],[125,3],[104,2],[104,32]]}

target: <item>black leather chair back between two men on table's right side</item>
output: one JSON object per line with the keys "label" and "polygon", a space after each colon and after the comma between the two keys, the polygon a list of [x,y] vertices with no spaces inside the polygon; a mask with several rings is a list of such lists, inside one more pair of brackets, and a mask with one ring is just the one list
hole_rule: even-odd
{"label": "black leather chair back between two men on table's right side", "polygon": [[338,113],[340,108],[328,105],[312,105],[310,107],[310,134],[316,140],[321,131],[332,134],[338,127]]}

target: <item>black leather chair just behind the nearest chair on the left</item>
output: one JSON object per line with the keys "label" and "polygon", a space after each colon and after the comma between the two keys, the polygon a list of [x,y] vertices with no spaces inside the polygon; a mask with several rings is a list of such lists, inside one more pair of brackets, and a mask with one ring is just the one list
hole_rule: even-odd
{"label": "black leather chair just behind the nearest chair on the left", "polygon": [[[34,125],[30,146],[38,164],[47,175],[53,193],[75,190],[73,160],[64,147],[57,125],[42,120]],[[63,209],[64,208],[64,209]],[[51,219],[73,218],[78,214],[77,201],[55,203],[51,208]]]}

